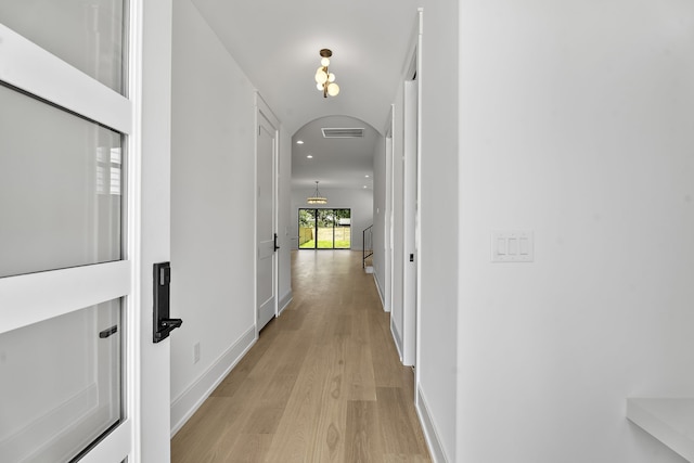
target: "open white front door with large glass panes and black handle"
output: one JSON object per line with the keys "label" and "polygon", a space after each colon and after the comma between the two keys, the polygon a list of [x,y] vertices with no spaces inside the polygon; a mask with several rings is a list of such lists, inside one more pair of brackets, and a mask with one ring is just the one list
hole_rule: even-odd
{"label": "open white front door with large glass panes and black handle", "polygon": [[[166,13],[167,2],[147,8]],[[140,279],[143,249],[159,246],[147,247],[155,234],[141,215],[168,205],[155,194],[168,184],[157,183],[167,176],[167,140],[149,156],[160,170],[143,168],[141,156],[141,124],[163,115],[145,114],[150,104],[139,99],[149,85],[138,59],[142,8],[127,0],[0,3],[4,463],[168,461],[168,414],[142,420],[146,390],[157,389],[169,407],[168,376],[146,388],[141,381],[143,333],[152,331],[151,321],[142,323],[143,313],[151,320],[141,295],[152,279]],[[168,36],[162,29],[158,37],[170,40],[170,23]],[[149,142],[160,146],[152,133]],[[144,173],[150,187],[140,180]],[[168,211],[153,218],[156,241],[168,243],[162,217]],[[168,249],[156,254],[168,258]],[[159,357],[168,363],[168,350]],[[142,443],[146,429],[162,429],[166,439],[150,439],[153,433]],[[146,458],[144,448],[164,460]]]}

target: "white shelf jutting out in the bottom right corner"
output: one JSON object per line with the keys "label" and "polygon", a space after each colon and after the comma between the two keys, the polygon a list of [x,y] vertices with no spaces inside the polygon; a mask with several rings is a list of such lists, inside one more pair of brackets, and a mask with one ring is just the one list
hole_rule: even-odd
{"label": "white shelf jutting out in the bottom right corner", "polygon": [[627,417],[694,462],[694,398],[627,399]]}

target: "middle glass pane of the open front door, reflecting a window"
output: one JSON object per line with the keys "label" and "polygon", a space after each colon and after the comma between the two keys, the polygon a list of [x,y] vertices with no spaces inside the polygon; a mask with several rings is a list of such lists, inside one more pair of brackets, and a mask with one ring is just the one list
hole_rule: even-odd
{"label": "middle glass pane of the open front door, reflecting a window", "polygon": [[0,86],[0,276],[123,257],[123,134]]}

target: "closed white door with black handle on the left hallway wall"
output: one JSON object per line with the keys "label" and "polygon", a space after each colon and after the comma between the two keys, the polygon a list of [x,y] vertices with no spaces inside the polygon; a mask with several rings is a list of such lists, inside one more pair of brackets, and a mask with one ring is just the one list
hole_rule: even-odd
{"label": "closed white door with black handle on the left hallway wall", "polygon": [[[261,101],[261,100],[259,100]],[[256,145],[256,305],[260,331],[277,314],[277,151],[278,124],[267,107],[258,107]]]}

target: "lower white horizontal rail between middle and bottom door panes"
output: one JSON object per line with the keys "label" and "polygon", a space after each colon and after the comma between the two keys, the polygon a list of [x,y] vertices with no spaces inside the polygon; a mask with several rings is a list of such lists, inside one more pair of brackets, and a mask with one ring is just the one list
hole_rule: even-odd
{"label": "lower white horizontal rail between middle and bottom door panes", "polygon": [[0,333],[127,295],[130,266],[119,260],[0,279]]}

